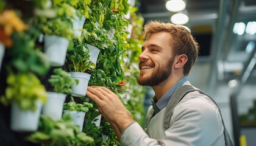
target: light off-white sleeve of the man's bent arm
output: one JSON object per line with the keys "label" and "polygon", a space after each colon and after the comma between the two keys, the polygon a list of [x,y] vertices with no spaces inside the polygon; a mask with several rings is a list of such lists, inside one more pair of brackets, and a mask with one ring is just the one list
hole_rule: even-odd
{"label": "light off-white sleeve of the man's bent arm", "polygon": [[204,100],[189,100],[177,105],[174,108],[171,125],[165,131],[165,137],[153,139],[137,122],[132,123],[123,132],[121,145],[211,145],[219,137],[223,137],[218,109]]}

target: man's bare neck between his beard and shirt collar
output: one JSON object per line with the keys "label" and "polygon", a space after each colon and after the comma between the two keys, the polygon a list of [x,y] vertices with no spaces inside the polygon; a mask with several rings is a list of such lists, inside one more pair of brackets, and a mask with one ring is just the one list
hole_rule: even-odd
{"label": "man's bare neck between his beard and shirt collar", "polygon": [[171,89],[177,82],[179,82],[180,78],[182,77],[183,75],[170,75],[170,77],[167,78],[164,82],[157,86],[152,86],[156,99],[159,100],[167,91],[169,91],[169,89]]}

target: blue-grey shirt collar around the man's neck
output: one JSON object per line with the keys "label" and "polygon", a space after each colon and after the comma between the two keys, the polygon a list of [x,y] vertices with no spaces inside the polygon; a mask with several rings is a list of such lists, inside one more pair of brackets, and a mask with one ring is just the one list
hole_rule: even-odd
{"label": "blue-grey shirt collar around the man's neck", "polygon": [[185,83],[187,81],[188,81],[187,76],[184,76],[184,77],[180,78],[180,80],[171,89],[169,89],[158,101],[155,99],[155,97],[153,98],[153,101],[152,101],[153,107],[154,107],[154,105],[156,105],[155,108],[158,108],[157,113],[166,107],[166,105],[169,102],[169,100],[171,99],[171,96],[174,93],[174,91],[179,86],[183,85],[183,83]]}

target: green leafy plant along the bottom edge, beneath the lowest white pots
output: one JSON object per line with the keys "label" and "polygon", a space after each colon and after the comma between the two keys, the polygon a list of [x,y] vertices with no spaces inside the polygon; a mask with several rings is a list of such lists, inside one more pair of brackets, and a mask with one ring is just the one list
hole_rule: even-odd
{"label": "green leafy plant along the bottom edge, beneath the lowest white pots", "polygon": [[80,132],[73,124],[69,114],[63,114],[62,120],[54,121],[41,115],[38,131],[26,137],[27,141],[40,145],[93,145],[93,138]]}

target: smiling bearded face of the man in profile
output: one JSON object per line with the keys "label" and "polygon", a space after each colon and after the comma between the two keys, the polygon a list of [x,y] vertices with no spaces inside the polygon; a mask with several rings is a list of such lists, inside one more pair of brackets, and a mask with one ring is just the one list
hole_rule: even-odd
{"label": "smiling bearded face of the man in profile", "polygon": [[140,59],[140,76],[137,82],[142,86],[156,86],[171,75],[172,57],[169,40],[171,35],[166,32],[152,33],[143,44]]}

